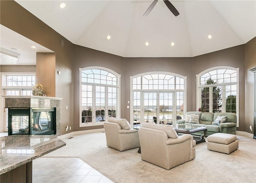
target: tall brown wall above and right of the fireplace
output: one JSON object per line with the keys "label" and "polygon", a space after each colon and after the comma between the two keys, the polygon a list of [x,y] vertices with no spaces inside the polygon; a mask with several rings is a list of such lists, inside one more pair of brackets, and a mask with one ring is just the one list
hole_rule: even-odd
{"label": "tall brown wall above and right of the fireplace", "polygon": [[[52,28],[44,24],[14,0],[0,1],[0,22],[3,26],[29,38],[52,50],[56,54],[56,71],[61,75],[56,76],[56,97],[62,97],[61,101],[61,134],[73,131],[73,49],[74,45],[63,38]],[[64,46],[60,40],[64,40]],[[1,67],[3,70],[3,66]],[[40,78],[36,78],[40,80]],[[66,109],[68,106],[68,109]],[[65,130],[65,126],[71,126],[72,130]]]}

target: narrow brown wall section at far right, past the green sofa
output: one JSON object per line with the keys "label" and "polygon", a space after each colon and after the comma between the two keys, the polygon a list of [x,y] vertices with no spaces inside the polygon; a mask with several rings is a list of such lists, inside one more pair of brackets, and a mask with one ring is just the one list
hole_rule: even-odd
{"label": "narrow brown wall section at far right, past the green sofa", "polygon": [[[248,133],[253,133],[250,126],[253,126],[254,113],[254,75],[249,69],[256,67],[256,38],[253,38],[245,44],[245,118],[244,130]],[[255,128],[255,127],[254,127]]]}

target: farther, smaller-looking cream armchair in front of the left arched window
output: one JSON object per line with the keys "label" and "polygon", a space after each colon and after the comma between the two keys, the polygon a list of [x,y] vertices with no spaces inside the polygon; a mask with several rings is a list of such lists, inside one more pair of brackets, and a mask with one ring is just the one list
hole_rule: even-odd
{"label": "farther, smaller-looking cream armchair in front of the left arched window", "polygon": [[104,129],[108,147],[118,151],[140,147],[138,129],[131,128],[126,119],[109,117]]}

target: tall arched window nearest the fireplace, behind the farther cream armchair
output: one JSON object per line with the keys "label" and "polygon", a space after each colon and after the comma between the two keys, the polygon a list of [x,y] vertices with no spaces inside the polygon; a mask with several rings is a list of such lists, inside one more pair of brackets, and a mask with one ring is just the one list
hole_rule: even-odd
{"label": "tall arched window nearest the fireplace, behind the farther cream armchair", "polygon": [[119,117],[119,79],[101,67],[80,69],[80,126],[102,125],[110,116]]}

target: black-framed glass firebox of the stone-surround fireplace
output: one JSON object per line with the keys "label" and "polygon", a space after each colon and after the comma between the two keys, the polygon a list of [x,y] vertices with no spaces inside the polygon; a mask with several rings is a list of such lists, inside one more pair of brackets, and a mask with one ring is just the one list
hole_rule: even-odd
{"label": "black-framed glass firebox of the stone-surround fireplace", "polygon": [[8,135],[56,134],[56,107],[9,107]]}

